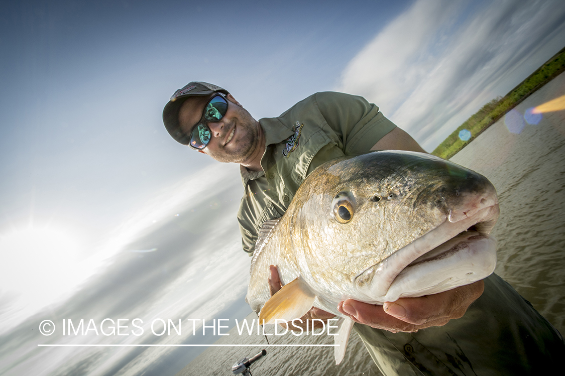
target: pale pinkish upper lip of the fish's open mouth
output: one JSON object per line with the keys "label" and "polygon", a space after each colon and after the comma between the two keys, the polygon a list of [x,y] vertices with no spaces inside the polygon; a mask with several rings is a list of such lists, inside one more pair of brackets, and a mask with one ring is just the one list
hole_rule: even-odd
{"label": "pale pinkish upper lip of the fish's open mouth", "polygon": [[451,239],[456,238],[460,233],[467,231],[467,229],[473,226],[475,226],[475,231],[480,237],[488,237],[498,219],[498,215],[499,206],[497,202],[492,206],[475,211],[470,217],[463,216],[456,222],[450,221],[448,213],[445,221],[436,228],[392,253],[386,259],[363,270],[362,273],[355,277],[355,285],[362,295],[366,295],[368,299],[375,303],[390,301],[386,300],[385,296],[394,279],[408,266],[411,266],[420,256],[436,250],[442,244],[451,241]]}

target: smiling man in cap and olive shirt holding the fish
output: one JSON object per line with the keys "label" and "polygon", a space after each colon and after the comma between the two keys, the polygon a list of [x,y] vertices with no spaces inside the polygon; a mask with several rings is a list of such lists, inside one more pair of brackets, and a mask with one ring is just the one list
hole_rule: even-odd
{"label": "smiling man in cap and olive shirt holding the fish", "polygon": [[[424,151],[374,104],[342,93],[317,93],[277,118],[256,121],[227,90],[206,82],[190,82],[171,97],[163,121],[176,141],[218,161],[241,165],[245,196],[238,221],[244,250],[250,253],[263,222],[282,216],[303,179],[324,161],[368,150]],[[271,272],[274,292],[280,288],[280,281],[276,268]],[[477,370],[496,369],[493,362],[496,365],[500,357],[512,361],[516,369],[533,369],[532,359],[544,364],[540,360],[544,352],[539,346],[549,343],[546,338],[563,347],[557,331],[520,300],[509,285],[497,276],[485,281],[485,294],[485,282],[479,281],[441,294],[401,298],[383,306],[347,299],[338,310],[364,324],[355,325],[355,329],[385,374],[474,374]],[[508,296],[511,298],[502,303]],[[475,300],[477,303],[470,308]],[[490,320],[494,306],[502,316]],[[526,311],[528,320],[544,320],[549,325],[524,329],[528,343],[520,337],[523,318],[514,320]],[[332,315],[312,309],[307,316]],[[488,333],[473,333],[469,338],[466,334],[472,333],[479,322]],[[519,329],[511,331],[511,327]],[[507,342],[506,347],[499,351],[502,340]],[[538,349],[519,354],[519,361],[509,355],[529,344]],[[489,357],[489,353],[480,353],[483,347],[488,351],[496,349],[498,356],[483,361]],[[479,360],[481,364],[477,364]],[[508,370],[511,366],[504,367]]]}

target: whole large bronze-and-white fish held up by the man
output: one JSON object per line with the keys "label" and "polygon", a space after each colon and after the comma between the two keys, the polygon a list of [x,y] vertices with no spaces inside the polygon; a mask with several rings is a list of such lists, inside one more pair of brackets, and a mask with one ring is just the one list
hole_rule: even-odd
{"label": "whole large bronze-and-white fish held up by the man", "polygon": [[[246,301],[266,324],[311,307],[338,316],[339,364],[354,323],[338,312],[340,301],[382,305],[488,277],[498,216],[487,178],[433,155],[389,150],[328,161],[260,229]],[[283,285],[273,296],[270,265]]]}

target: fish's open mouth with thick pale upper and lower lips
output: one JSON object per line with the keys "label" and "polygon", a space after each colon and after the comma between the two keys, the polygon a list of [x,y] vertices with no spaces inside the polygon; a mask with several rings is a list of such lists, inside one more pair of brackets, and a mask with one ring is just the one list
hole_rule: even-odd
{"label": "fish's open mouth with thick pale upper and lower lips", "polygon": [[451,290],[488,277],[496,266],[496,195],[453,209],[435,229],[355,278],[373,304]]}

